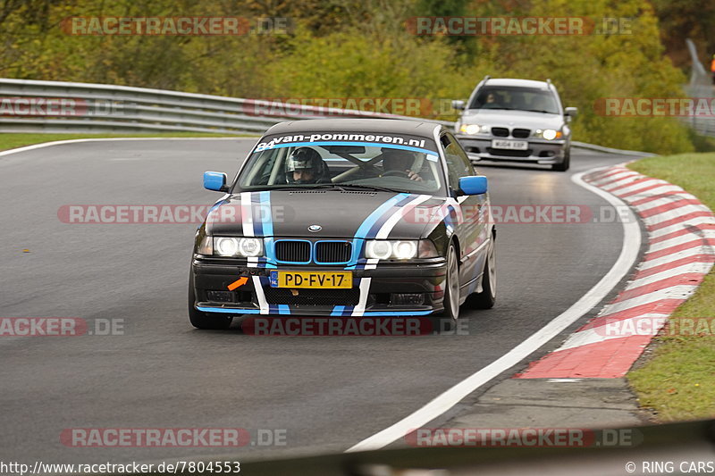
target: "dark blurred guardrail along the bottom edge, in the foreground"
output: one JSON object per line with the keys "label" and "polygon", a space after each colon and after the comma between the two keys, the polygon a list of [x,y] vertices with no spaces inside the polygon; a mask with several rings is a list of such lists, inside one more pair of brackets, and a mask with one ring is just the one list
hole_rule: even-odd
{"label": "dark blurred guardrail along the bottom edge, in the foreground", "polygon": [[390,449],[357,453],[272,457],[263,461],[241,459],[240,470],[252,476],[608,476],[629,472],[644,474],[648,468],[649,474],[669,475],[694,473],[697,462],[711,462],[715,455],[715,420],[584,430],[589,435],[599,431],[615,431],[618,435],[632,435],[633,438],[605,445],[592,439],[580,447],[570,442],[552,447],[518,447],[504,444],[503,440],[501,444],[494,441],[475,443],[472,447],[468,443],[456,447],[441,442],[434,447],[405,447],[407,445],[403,443],[401,447],[395,445]]}

